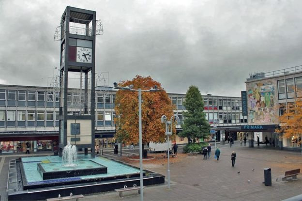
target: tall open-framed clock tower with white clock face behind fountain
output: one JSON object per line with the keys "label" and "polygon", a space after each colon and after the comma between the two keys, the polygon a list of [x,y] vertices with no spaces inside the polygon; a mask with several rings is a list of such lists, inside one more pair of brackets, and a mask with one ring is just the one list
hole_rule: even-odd
{"label": "tall open-framed clock tower with white clock face behind fountain", "polygon": [[[85,155],[90,148],[91,157],[94,157],[95,35],[98,21],[95,18],[95,11],[69,6],[61,17],[60,156],[69,141],[84,149]],[[76,75],[80,76],[80,89],[70,81]]]}

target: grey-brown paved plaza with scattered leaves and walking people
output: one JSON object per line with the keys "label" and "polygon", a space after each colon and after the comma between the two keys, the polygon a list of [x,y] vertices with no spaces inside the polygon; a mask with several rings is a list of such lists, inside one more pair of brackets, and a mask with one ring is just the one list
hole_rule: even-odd
{"label": "grey-brown paved plaza with scattered leaves and walking people", "polygon": [[[276,182],[276,178],[284,174],[286,170],[301,168],[301,153],[275,150],[266,147],[266,145],[261,145],[260,148],[257,146],[255,148],[241,147],[238,142],[232,148],[228,144],[217,145],[217,147],[221,150],[219,162],[213,158],[213,155],[208,160],[203,160],[202,155],[188,156],[181,153],[176,158],[171,158],[171,189],[168,189],[167,182],[163,185],[147,186],[144,189],[144,200],[268,201],[284,200],[302,194],[302,176],[300,175],[297,181]],[[214,150],[214,146],[212,146],[212,150]],[[181,146],[179,151],[181,152]],[[231,167],[230,155],[232,151],[237,154],[235,167]],[[137,152],[137,149],[123,150],[123,156],[120,156],[114,155],[112,149],[110,149],[105,151],[104,155],[127,161],[138,167],[138,161],[129,160],[127,157],[127,155]],[[167,159],[162,158],[162,153],[150,155],[154,156],[155,159],[144,161],[144,169],[166,175]],[[7,200],[5,189],[8,162],[12,158],[16,158],[16,156],[0,156],[1,201]],[[272,186],[264,186],[262,183],[264,181],[263,169],[267,167],[272,168]],[[255,170],[253,171],[252,169]],[[239,171],[240,173],[238,174]],[[136,201],[139,199],[139,194],[134,191],[124,193],[124,198],[122,199],[119,198],[118,193],[111,191],[85,195],[83,200]]]}

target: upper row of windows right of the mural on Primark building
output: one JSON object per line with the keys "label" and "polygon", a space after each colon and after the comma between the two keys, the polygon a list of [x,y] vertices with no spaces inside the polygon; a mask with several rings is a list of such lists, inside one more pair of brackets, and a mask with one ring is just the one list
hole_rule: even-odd
{"label": "upper row of windows right of the mural on Primark building", "polygon": [[302,77],[278,80],[279,99],[294,98],[295,95],[301,97],[302,93],[298,93],[299,91],[302,91]]}

